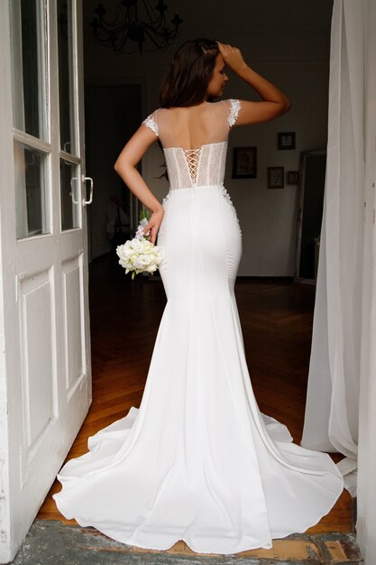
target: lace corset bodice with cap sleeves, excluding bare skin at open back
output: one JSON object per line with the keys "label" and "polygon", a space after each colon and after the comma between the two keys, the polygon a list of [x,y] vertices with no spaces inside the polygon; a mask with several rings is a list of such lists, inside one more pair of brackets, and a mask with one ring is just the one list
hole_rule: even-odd
{"label": "lace corset bodice with cap sleeves, excluding bare skin at open back", "polygon": [[[240,101],[234,99],[209,104],[202,116],[203,122],[206,121],[206,131],[210,132],[206,135],[208,143],[192,149],[179,146],[181,124],[179,119],[170,119],[167,113],[171,110],[157,110],[142,122],[160,137],[171,190],[223,184],[228,132],[237,119],[240,107]],[[163,114],[160,115],[160,112]],[[176,145],[166,146],[169,144]]]}

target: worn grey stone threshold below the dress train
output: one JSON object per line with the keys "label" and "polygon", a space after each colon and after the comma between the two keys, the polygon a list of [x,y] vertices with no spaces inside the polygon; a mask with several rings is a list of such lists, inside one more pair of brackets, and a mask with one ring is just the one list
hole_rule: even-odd
{"label": "worn grey stone threshold below the dress train", "polygon": [[184,542],[168,551],[143,550],[115,542],[94,528],[36,520],[13,565],[316,565],[362,564],[353,533],[296,533],[275,540],[270,550],[233,555],[199,554]]}

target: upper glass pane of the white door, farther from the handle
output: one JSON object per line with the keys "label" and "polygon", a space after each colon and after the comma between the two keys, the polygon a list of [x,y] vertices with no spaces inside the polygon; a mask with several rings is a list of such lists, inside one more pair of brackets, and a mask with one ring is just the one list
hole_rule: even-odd
{"label": "upper glass pane of the white door, farther from the handle", "polygon": [[46,138],[44,2],[12,0],[14,127]]}

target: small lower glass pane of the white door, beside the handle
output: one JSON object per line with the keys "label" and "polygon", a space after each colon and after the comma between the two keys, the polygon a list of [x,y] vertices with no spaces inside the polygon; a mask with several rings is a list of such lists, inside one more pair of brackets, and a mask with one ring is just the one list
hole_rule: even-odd
{"label": "small lower glass pane of the white door, beside the handle", "polygon": [[78,165],[60,160],[61,229],[79,227]]}

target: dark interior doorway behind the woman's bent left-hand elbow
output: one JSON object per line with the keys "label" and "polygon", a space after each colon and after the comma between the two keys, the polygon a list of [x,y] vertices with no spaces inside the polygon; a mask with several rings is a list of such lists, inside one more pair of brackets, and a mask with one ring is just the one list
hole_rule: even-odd
{"label": "dark interior doorway behind the woman's bent left-hand elbow", "polygon": [[[87,85],[85,130],[87,170],[95,182],[96,196],[88,208],[89,261],[110,253],[108,208],[120,202],[132,230],[138,219],[138,202],[114,170],[117,155],[141,122],[141,85]],[[126,238],[126,237],[125,237]]]}

